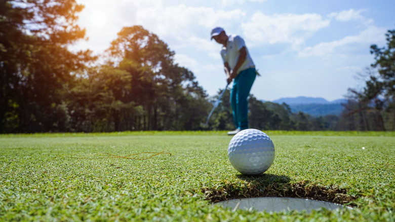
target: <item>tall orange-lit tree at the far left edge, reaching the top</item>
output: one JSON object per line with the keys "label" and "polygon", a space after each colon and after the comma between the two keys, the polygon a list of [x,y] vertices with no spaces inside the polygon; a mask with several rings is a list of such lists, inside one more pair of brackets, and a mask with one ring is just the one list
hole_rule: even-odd
{"label": "tall orange-lit tree at the far left edge, reaching the top", "polygon": [[[75,0],[0,2],[0,132],[60,131],[72,73],[92,59],[67,46],[84,38]],[[4,38],[3,38],[4,37]]]}

